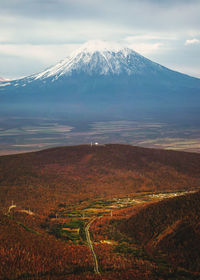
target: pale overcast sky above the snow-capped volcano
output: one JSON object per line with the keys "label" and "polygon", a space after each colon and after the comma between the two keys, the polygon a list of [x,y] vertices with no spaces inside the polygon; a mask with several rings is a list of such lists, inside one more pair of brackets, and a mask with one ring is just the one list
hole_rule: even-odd
{"label": "pale overcast sky above the snow-capped volcano", "polygon": [[0,0],[0,77],[40,72],[94,39],[200,78],[200,0]]}

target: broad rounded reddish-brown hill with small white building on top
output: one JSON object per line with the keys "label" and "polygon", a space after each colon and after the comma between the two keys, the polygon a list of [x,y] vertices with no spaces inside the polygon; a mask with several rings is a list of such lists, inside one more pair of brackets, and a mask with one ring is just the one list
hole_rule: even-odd
{"label": "broad rounded reddish-brown hill with small white building on top", "polygon": [[[12,172],[11,172],[12,170]],[[199,187],[200,154],[126,145],[74,146],[0,157],[0,205],[58,203]]]}

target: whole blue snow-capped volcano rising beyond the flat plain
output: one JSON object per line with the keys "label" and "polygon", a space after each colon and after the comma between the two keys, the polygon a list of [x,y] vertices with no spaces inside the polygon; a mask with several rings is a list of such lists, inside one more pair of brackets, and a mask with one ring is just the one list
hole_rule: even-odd
{"label": "whole blue snow-capped volcano rising beyond the flat plain", "polygon": [[[3,86],[5,85],[5,86]],[[1,83],[7,110],[89,118],[131,118],[133,112],[193,110],[200,104],[200,80],[146,59],[131,49],[88,42],[62,62],[8,85]]]}

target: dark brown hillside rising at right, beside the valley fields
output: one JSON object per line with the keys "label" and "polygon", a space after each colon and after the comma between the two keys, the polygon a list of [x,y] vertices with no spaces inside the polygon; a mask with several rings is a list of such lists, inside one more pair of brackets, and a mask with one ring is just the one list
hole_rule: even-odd
{"label": "dark brown hillside rising at right, beside the valley fields", "polygon": [[199,202],[200,192],[196,192],[147,205],[119,229],[174,267],[200,272]]}

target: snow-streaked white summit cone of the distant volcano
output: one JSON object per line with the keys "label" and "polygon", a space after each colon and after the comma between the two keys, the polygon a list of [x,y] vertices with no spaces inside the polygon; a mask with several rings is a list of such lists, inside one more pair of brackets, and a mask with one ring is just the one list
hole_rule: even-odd
{"label": "snow-streaked white summit cone of the distant volcano", "polygon": [[52,81],[55,81],[63,75],[70,76],[73,73],[131,75],[144,71],[146,64],[151,64],[151,68],[161,67],[127,47],[104,41],[89,41],[63,61],[31,78],[34,80],[52,78]]}

